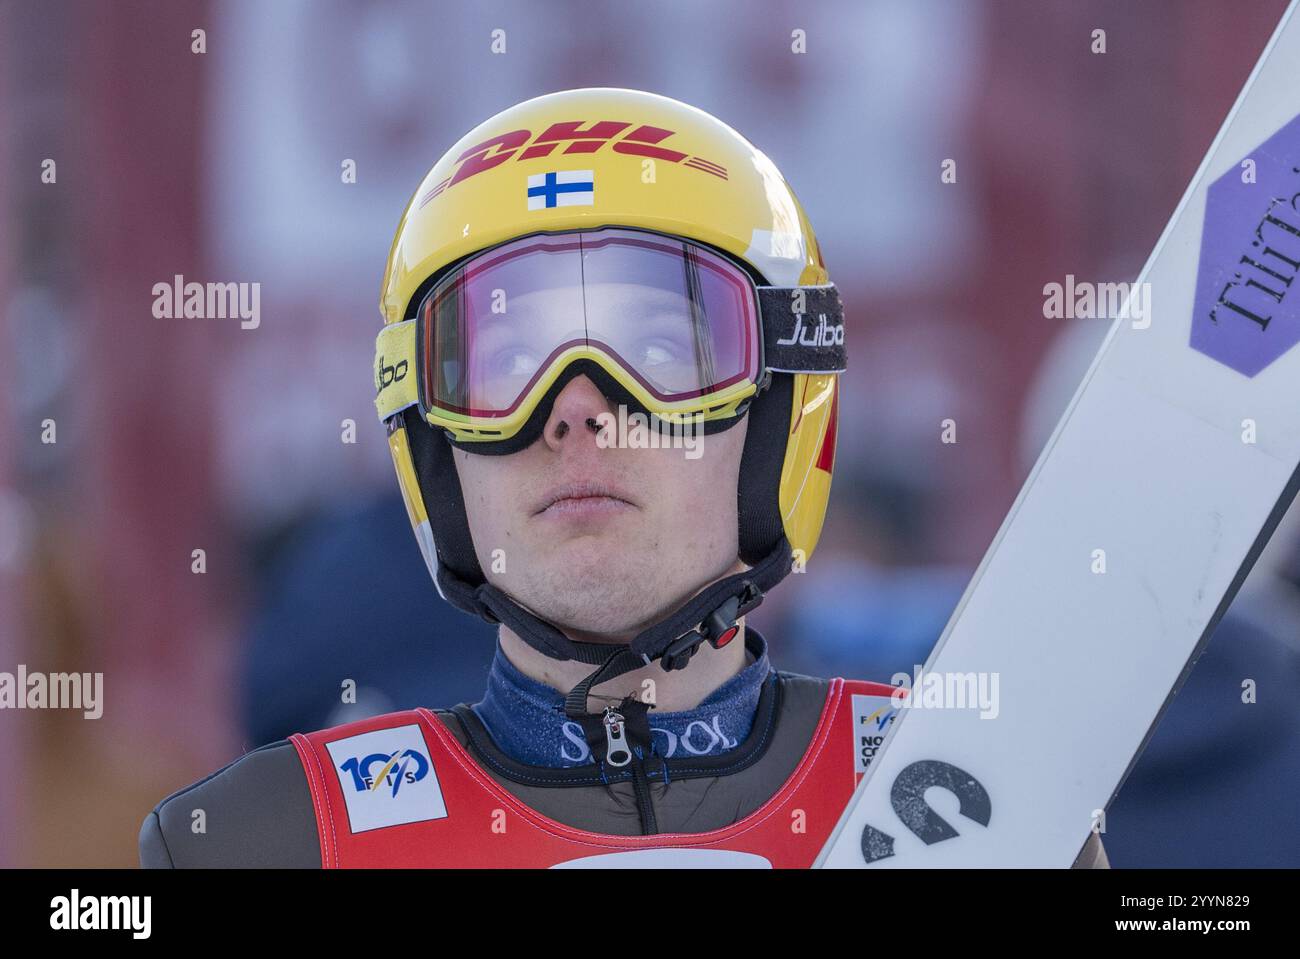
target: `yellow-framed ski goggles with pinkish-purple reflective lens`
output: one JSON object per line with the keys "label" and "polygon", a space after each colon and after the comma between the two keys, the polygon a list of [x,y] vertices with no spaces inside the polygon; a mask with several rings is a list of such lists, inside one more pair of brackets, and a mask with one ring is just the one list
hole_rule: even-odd
{"label": "yellow-framed ski goggles with pinkish-purple reflective lens", "polygon": [[[386,418],[416,403],[460,442],[504,441],[588,360],[662,418],[733,417],[763,385],[760,290],[775,288],[676,237],[614,227],[524,237],[459,264],[415,320],[384,329],[376,404]],[[842,324],[826,346],[840,344]]]}

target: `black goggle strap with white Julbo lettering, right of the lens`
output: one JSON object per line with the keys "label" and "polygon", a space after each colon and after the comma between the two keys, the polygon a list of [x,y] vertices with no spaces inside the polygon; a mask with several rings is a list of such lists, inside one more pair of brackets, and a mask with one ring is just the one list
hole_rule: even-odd
{"label": "black goggle strap with white Julbo lettering, right of the lens", "polygon": [[842,373],[844,304],[833,283],[760,286],[763,366],[774,373]]}

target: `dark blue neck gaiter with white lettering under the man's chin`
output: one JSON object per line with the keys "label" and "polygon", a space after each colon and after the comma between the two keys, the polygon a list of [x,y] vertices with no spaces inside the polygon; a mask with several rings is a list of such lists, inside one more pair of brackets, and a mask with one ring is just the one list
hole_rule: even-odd
{"label": "dark blue neck gaiter with white lettering under the man's chin", "polygon": [[[736,748],[749,735],[763,681],[771,672],[767,642],[745,630],[754,661],[715,689],[694,710],[647,716],[654,751],[664,759],[715,756]],[[524,676],[506,659],[500,643],[488,672],[488,690],[472,707],[493,742],[511,759],[552,769],[592,764],[582,728],[564,716],[564,695]]]}

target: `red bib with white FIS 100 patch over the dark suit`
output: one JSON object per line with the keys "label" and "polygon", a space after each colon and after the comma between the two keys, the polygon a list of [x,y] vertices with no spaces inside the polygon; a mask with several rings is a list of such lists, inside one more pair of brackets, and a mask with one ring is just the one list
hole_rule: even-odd
{"label": "red bib with white FIS 100 patch over the dark suit", "polygon": [[894,687],[832,680],[776,793],[705,833],[610,836],[558,823],[494,780],[429,710],[291,737],[325,868],[811,865],[893,716]]}

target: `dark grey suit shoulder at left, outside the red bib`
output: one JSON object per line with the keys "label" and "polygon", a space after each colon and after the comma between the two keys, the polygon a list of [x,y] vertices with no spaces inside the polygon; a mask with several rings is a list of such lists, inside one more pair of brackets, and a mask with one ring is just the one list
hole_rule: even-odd
{"label": "dark grey suit shoulder at left, outside the red bib", "polygon": [[247,752],[144,817],[144,868],[320,868],[311,790],[289,741]]}

